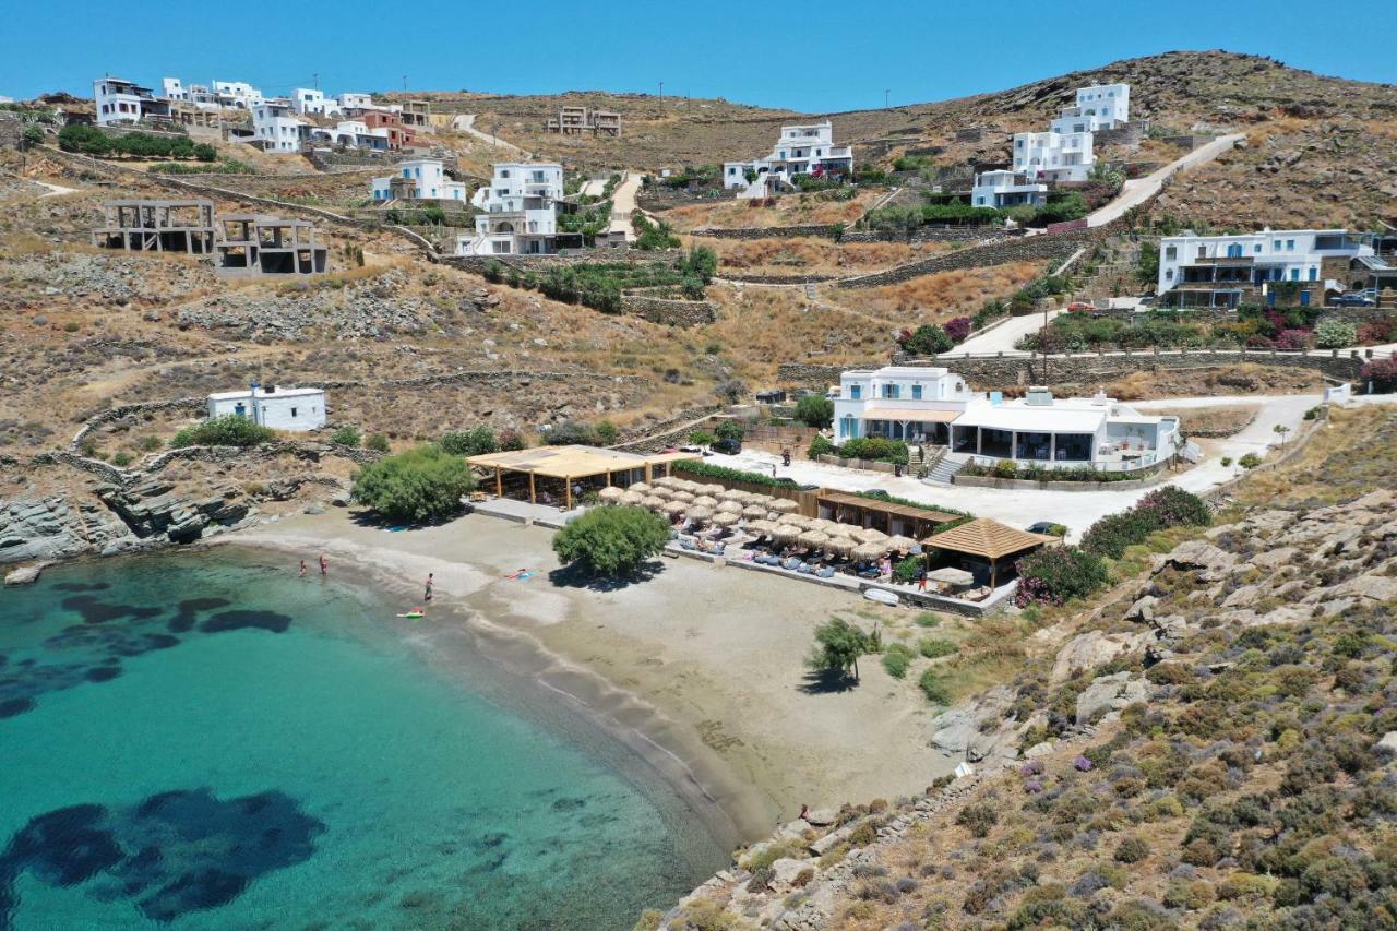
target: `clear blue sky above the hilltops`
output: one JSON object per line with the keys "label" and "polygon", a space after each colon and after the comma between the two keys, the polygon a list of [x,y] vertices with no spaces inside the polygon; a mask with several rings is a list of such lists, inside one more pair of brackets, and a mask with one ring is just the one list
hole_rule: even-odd
{"label": "clear blue sky above the hilltops", "polygon": [[[564,89],[725,96],[805,112],[997,91],[1173,49],[1268,55],[1397,84],[1397,3],[1320,28],[1312,0],[1071,4],[807,0],[390,4],[63,0],[4,4],[0,95],[91,95],[110,73],[158,87],[244,80],[267,94]],[[61,17],[59,17],[61,10]],[[57,32],[52,29],[57,27]],[[1361,28],[1355,28],[1361,27]]]}

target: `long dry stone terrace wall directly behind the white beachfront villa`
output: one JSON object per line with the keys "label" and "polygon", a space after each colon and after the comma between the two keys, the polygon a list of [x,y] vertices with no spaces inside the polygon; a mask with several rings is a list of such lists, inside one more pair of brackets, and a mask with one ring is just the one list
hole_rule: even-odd
{"label": "long dry stone terrace wall directly behind the white beachfront villa", "polygon": [[[898,365],[933,365],[950,369],[970,382],[981,384],[1063,384],[1083,380],[1109,380],[1132,372],[1155,372],[1178,369],[1213,369],[1242,363],[1317,369],[1340,380],[1356,379],[1363,366],[1362,354],[1309,355],[1301,352],[1241,352],[1241,351],[1190,351],[1155,355],[1154,352],[1126,354],[1077,354],[1030,356],[942,356],[929,359],[898,359]],[[784,363],[777,370],[777,380],[788,384],[823,387],[838,383],[840,373],[851,368],[879,368],[886,362],[868,365],[816,365],[807,362]]]}

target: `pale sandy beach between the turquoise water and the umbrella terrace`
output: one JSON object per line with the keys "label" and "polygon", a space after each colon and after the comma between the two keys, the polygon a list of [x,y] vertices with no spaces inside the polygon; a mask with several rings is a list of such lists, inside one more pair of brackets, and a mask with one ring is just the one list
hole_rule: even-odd
{"label": "pale sandy beach between the turquoise water and the umbrella terrace", "polygon": [[[390,533],[351,512],[295,516],[222,542],[314,559],[422,604],[436,575],[432,623],[460,625],[502,663],[574,702],[662,774],[725,814],[743,839],[793,818],[802,804],[837,807],[919,791],[954,763],[928,745],[935,714],[915,682],[877,657],[862,682],[820,691],[803,665],[813,628],[834,614],[890,633],[911,612],[848,593],[717,568],[657,561],[650,577],[612,589],[550,573],[553,531],[467,514]],[[504,576],[536,573],[525,582]]]}

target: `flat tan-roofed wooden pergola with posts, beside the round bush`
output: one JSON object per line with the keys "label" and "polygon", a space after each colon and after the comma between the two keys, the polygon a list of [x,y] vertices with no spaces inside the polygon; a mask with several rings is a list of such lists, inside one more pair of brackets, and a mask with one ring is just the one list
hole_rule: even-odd
{"label": "flat tan-roofed wooden pergola with posts, beside the round bush", "polygon": [[474,468],[495,472],[495,493],[504,498],[504,474],[528,475],[528,499],[538,503],[538,479],[552,478],[563,482],[566,509],[573,509],[573,482],[580,479],[602,479],[605,485],[623,485],[633,481],[654,481],[669,474],[673,463],[701,459],[697,453],[623,453],[598,446],[539,446],[507,453],[483,453],[465,461]]}

